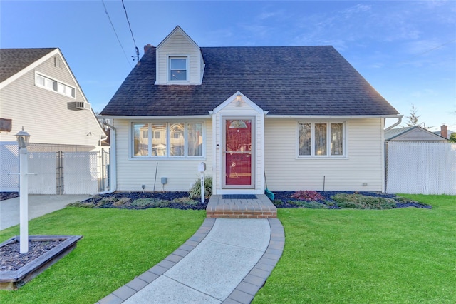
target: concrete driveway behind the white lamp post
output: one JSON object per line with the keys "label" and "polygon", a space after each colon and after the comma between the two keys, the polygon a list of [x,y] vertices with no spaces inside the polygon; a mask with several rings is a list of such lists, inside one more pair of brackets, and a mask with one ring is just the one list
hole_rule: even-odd
{"label": "concrete driveway behind the white lamp post", "polygon": [[[65,208],[68,203],[83,201],[88,195],[28,195],[28,219],[38,218],[53,211]],[[19,225],[19,198],[0,201],[0,230]]]}

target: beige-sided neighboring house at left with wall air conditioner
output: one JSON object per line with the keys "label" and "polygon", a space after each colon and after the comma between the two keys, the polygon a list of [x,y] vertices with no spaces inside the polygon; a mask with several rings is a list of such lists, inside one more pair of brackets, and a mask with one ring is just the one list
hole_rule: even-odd
{"label": "beige-sided neighboring house at left with wall air conditioner", "polygon": [[[100,150],[104,130],[60,49],[0,49],[0,58],[0,191],[17,191],[18,178],[9,173],[18,171],[15,135],[22,128],[31,135],[29,152]],[[31,165],[38,169],[38,163]],[[43,167],[58,171],[56,160],[52,168]],[[39,178],[47,174],[41,173]],[[53,185],[59,178],[45,183]]]}

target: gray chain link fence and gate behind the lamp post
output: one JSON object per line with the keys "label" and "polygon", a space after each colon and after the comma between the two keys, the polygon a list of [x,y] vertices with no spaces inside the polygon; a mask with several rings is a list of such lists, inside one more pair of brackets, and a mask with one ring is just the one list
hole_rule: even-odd
{"label": "gray chain link fence and gate behind the lamp post", "polygon": [[[28,193],[94,194],[110,187],[109,151],[86,146],[30,145]],[[19,148],[0,143],[0,191],[19,191]]]}

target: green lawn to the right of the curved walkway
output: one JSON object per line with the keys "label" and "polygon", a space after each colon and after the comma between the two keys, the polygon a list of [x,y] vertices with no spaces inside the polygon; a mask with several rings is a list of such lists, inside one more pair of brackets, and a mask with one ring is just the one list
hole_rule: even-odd
{"label": "green lawn to the right of the curved walkway", "polygon": [[258,303],[456,303],[456,196],[432,210],[279,209],[284,254]]}

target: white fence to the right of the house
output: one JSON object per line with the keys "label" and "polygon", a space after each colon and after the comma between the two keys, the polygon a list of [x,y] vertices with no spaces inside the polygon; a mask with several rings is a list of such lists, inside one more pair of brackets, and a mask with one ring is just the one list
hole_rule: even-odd
{"label": "white fence to the right of the house", "polygon": [[456,195],[456,143],[388,142],[386,192]]}

